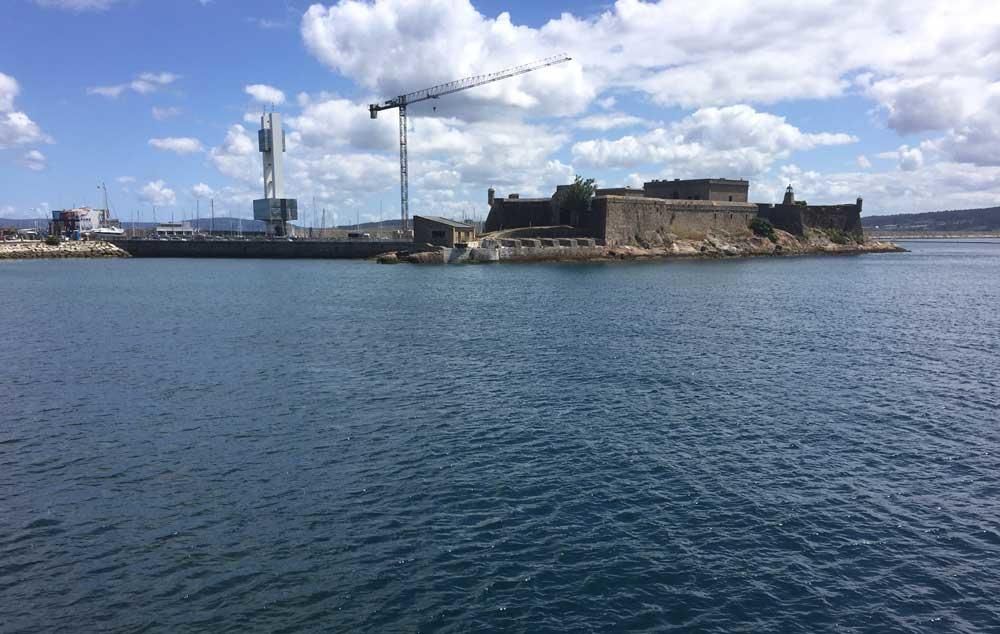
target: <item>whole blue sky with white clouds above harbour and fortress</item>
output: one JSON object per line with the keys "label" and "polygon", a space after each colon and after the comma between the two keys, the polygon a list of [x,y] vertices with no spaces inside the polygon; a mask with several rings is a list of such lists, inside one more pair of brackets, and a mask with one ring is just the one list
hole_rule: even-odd
{"label": "whole blue sky with white clouds above harbour and fortress", "polygon": [[[8,0],[0,217],[250,217],[254,120],[286,119],[306,221],[398,214],[395,118],[366,104],[566,52],[413,107],[411,213],[485,190],[742,177],[866,214],[1000,204],[1000,7],[955,0]],[[974,18],[974,19],[972,19]],[[436,110],[434,109],[436,108]]]}

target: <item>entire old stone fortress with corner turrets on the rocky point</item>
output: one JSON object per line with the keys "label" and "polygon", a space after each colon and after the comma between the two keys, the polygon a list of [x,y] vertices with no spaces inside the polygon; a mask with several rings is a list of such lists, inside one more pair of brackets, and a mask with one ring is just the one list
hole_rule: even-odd
{"label": "entire old stone fortress with corner turrets on the rocky point", "polygon": [[794,236],[816,231],[864,241],[860,198],[854,204],[807,205],[795,200],[790,185],[781,204],[754,204],[748,202],[750,183],[745,180],[653,180],[642,189],[597,189],[585,210],[561,204],[569,187],[560,185],[549,198],[521,198],[518,194],[497,198],[490,189],[485,231],[523,238],[534,233],[538,237],[593,238],[607,246],[650,248],[710,235],[748,236],[754,219],[763,218]]}

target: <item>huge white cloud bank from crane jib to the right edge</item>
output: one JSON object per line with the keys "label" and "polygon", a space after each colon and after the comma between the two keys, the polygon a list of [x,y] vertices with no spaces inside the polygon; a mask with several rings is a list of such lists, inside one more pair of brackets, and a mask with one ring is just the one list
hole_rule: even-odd
{"label": "huge white cloud bank from crane jib to the right edge", "polygon": [[434,103],[439,116],[579,114],[592,101],[611,110],[608,93],[628,90],[692,110],[860,94],[891,129],[940,131],[951,158],[984,165],[1000,160],[990,105],[1000,95],[998,32],[1000,5],[981,0],[617,0],[537,27],[469,0],[341,0],[312,5],[301,21],[318,60],[379,97],[557,52],[574,58],[449,95]]}

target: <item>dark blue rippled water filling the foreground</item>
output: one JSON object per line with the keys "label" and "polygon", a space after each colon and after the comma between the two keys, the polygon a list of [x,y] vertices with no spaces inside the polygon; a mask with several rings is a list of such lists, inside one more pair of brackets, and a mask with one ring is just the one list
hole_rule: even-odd
{"label": "dark blue rippled water filling the foreground", "polygon": [[0,263],[0,630],[1000,628],[1000,243]]}

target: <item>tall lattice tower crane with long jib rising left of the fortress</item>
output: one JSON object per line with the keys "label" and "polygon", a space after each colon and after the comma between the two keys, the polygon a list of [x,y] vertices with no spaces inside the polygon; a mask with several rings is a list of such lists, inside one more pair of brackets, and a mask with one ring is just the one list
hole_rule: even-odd
{"label": "tall lattice tower crane with long jib rising left of the fortress", "polygon": [[513,66],[511,68],[500,70],[495,73],[488,73],[486,75],[473,75],[472,77],[457,79],[455,81],[450,81],[447,84],[424,88],[423,90],[400,95],[394,99],[389,99],[382,103],[373,103],[368,106],[368,112],[371,114],[372,119],[377,119],[378,113],[382,110],[391,110],[392,108],[397,108],[399,110],[399,212],[402,217],[401,228],[403,231],[409,229],[410,224],[410,184],[409,170],[407,168],[406,159],[406,107],[420,101],[437,99],[444,95],[450,95],[453,92],[468,90],[469,88],[475,88],[476,86],[482,86],[483,84],[500,81],[501,79],[508,79],[510,77],[516,77],[517,75],[530,73],[538,70],[539,68],[545,68],[546,66],[562,64],[563,62],[568,62],[571,59],[573,58],[567,57],[566,55],[546,57],[545,59],[538,60],[537,62],[531,62],[530,64]]}

